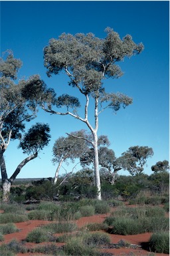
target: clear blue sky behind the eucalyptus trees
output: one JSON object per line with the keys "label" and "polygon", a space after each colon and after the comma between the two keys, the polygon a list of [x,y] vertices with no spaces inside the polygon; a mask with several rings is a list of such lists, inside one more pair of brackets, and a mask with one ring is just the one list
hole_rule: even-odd
{"label": "clear blue sky behind the eucalyptus trees", "polygon": [[[130,34],[135,43],[142,42],[141,55],[120,63],[124,76],[106,80],[106,91],[122,92],[133,98],[133,104],[117,114],[107,110],[100,116],[98,135],[108,136],[119,157],[130,146],[149,146],[154,155],[147,161],[145,174],[157,161],[169,160],[169,1],[1,1],[1,54],[13,50],[23,61],[19,78],[40,74],[58,96],[75,94],[64,74],[46,76],[43,48],[51,38],[65,33],[89,33],[104,38],[111,27],[124,37]],[[51,141],[21,170],[17,178],[53,177],[52,146],[59,136],[86,128],[71,117],[50,116],[39,112],[35,122],[50,124]],[[11,142],[5,154],[8,175],[26,157]],[[64,166],[69,172],[72,165]],[[76,168],[79,170],[80,168]],[[61,170],[60,174],[65,172]],[[120,174],[128,174],[121,171]]]}

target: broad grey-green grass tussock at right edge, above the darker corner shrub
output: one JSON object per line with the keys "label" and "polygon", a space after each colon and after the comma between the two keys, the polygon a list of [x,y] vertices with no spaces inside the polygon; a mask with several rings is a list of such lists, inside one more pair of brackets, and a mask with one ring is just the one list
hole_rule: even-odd
{"label": "broad grey-green grass tussock at right edge, above the darker corner shrub", "polygon": [[120,207],[104,221],[108,231],[119,235],[169,230],[169,219],[161,207]]}

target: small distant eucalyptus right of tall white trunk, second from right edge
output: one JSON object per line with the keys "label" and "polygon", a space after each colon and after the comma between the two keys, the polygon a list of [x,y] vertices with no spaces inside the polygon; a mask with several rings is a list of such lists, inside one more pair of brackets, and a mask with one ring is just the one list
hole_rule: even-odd
{"label": "small distant eucalyptus right of tall white trunk, second from right edge", "polygon": [[147,162],[147,158],[153,156],[153,149],[148,146],[132,146],[126,152],[122,153],[120,161],[122,168],[128,170],[133,176],[141,174]]}

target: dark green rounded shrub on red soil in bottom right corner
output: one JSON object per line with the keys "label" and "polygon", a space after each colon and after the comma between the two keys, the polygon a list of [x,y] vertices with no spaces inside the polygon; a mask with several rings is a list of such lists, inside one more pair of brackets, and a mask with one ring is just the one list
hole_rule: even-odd
{"label": "dark green rounded shrub on red soil in bottom right corner", "polygon": [[153,233],[149,246],[155,253],[169,254],[169,232]]}

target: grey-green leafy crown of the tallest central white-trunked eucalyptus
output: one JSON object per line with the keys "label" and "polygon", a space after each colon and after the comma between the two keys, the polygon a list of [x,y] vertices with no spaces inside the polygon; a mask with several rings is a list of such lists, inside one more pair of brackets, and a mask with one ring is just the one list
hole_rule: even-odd
{"label": "grey-green leafy crown of the tallest central white-trunked eucalyptus", "polygon": [[[108,106],[118,110],[120,104],[128,106],[131,98],[121,93],[104,92],[102,80],[122,76],[122,70],[116,63],[123,61],[125,57],[141,53],[143,45],[136,45],[129,35],[120,39],[118,33],[110,28],[106,29],[106,33],[105,39],[99,39],[92,33],[63,33],[58,39],[50,39],[49,45],[44,48],[44,66],[48,76],[65,70],[70,78],[70,85],[78,87],[83,94],[91,94],[94,98],[97,93],[101,103],[110,102]],[[66,95],[62,96],[61,101],[60,99],[59,97],[56,100],[57,106],[63,106],[65,101],[66,106],[68,101],[69,104],[73,102]],[[78,106],[76,103],[75,107]]]}

